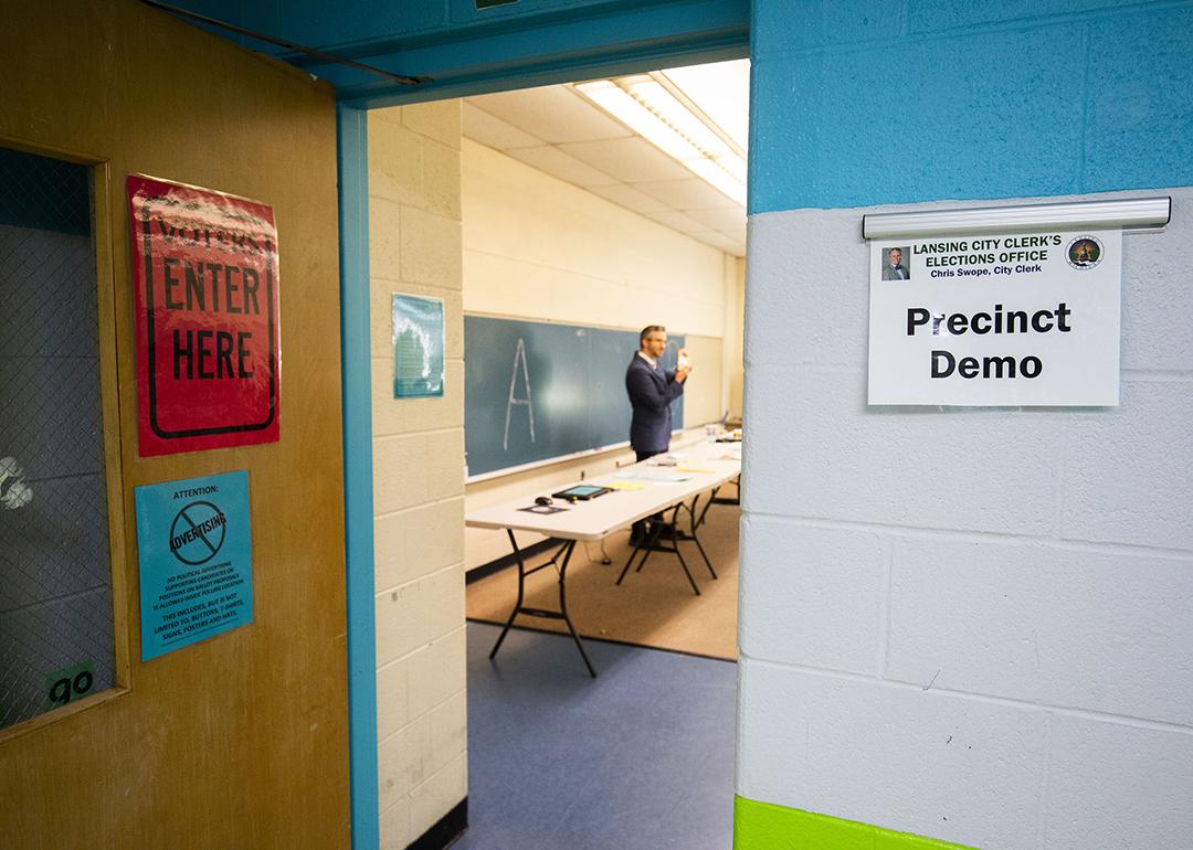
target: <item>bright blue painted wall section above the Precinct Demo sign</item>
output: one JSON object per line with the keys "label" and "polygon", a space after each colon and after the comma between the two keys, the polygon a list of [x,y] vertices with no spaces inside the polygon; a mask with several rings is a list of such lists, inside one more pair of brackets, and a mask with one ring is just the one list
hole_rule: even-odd
{"label": "bright blue painted wall section above the Precinct Demo sign", "polygon": [[754,0],[750,212],[1193,182],[1193,4]]}

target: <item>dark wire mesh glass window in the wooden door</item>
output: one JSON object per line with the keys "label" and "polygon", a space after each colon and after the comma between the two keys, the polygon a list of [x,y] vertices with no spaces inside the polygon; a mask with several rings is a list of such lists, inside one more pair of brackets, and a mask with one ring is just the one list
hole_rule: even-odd
{"label": "dark wire mesh glass window in the wooden door", "polygon": [[0,728],[115,684],[91,172],[0,148]]}

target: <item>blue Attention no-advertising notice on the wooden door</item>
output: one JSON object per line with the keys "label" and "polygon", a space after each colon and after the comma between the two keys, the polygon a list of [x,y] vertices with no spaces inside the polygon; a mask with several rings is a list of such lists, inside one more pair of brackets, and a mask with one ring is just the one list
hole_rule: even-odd
{"label": "blue Attention no-advertising notice on the wooden door", "polygon": [[138,486],[141,660],[253,621],[248,472]]}

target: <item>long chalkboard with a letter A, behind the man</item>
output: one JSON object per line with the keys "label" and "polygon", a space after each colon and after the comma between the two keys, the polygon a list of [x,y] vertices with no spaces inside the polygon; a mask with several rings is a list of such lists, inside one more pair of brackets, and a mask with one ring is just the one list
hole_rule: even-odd
{"label": "long chalkboard with a letter A, behind the man", "polygon": [[[682,336],[663,366],[675,368]],[[616,446],[630,439],[625,368],[637,330],[464,316],[468,474]],[[684,397],[672,404],[684,422]]]}

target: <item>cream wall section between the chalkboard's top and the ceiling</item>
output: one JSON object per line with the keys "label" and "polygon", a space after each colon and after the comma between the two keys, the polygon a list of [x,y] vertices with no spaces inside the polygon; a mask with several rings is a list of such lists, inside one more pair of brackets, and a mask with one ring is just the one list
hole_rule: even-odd
{"label": "cream wall section between the chalkboard's top and the ceiling", "polygon": [[464,139],[464,309],[721,337],[724,254]]}

